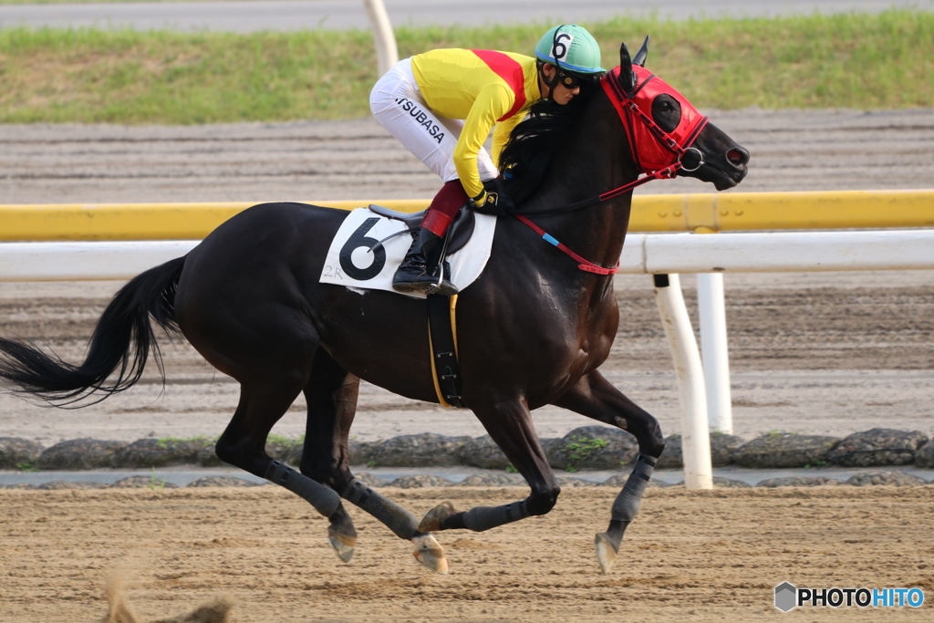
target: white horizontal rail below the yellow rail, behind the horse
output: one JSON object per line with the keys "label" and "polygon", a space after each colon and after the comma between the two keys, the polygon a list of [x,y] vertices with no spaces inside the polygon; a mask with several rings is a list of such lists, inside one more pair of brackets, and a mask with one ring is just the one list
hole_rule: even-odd
{"label": "white horizontal rail below the yellow rail, behind the horse", "polygon": [[[0,243],[0,281],[129,279],[196,240]],[[629,234],[620,272],[781,273],[934,268],[934,230]]]}

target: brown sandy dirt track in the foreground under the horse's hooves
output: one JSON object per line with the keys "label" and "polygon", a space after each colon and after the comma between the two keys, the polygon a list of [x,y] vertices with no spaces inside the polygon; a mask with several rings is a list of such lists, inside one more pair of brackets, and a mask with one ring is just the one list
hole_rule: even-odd
{"label": "brown sandy dirt track in the foreground under the horse's hooves", "polygon": [[[421,514],[452,500],[505,503],[523,489],[387,489]],[[326,522],[278,488],[0,491],[0,621],[92,621],[103,578],[132,571],[143,620],[228,594],[233,620],[758,621],[930,619],[934,486],[649,489],[622,558],[601,575],[592,552],[616,491],[570,489],[548,516],[439,535],[449,575],[417,565],[361,513],[355,558],[340,563]],[[804,608],[772,589],[917,587],[920,609]],[[783,619],[784,620],[784,619]]]}

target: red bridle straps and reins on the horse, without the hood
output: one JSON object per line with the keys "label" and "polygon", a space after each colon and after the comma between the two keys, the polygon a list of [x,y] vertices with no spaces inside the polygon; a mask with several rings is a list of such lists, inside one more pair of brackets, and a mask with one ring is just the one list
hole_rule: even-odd
{"label": "red bridle straps and reins on the horse, without the hood", "polygon": [[[651,79],[651,78],[654,78],[654,77],[650,77],[648,79]],[[648,80],[645,80],[645,82],[648,82]],[[647,173],[645,177],[640,177],[639,179],[631,181],[628,184],[623,184],[622,186],[619,186],[613,189],[612,191],[603,192],[593,197],[589,197],[583,201],[578,201],[574,204],[564,205],[558,208],[551,208],[551,209],[546,209],[546,210],[535,210],[532,212],[524,212],[522,214],[513,214],[512,216],[516,217],[521,222],[523,222],[525,225],[530,227],[533,232],[542,236],[545,242],[558,248],[560,251],[564,252],[565,254],[573,258],[573,260],[578,262],[577,263],[578,269],[582,271],[586,271],[587,273],[594,273],[596,275],[614,275],[616,274],[616,272],[619,271],[619,261],[616,262],[615,267],[606,268],[599,264],[595,264],[593,262],[585,260],[583,257],[578,255],[577,253],[574,253],[573,250],[571,250],[570,248],[565,247],[564,244],[560,243],[554,236],[545,233],[545,230],[543,230],[541,227],[533,223],[527,217],[550,215],[550,214],[563,214],[565,212],[572,212],[573,210],[579,210],[581,208],[588,207],[590,205],[597,205],[597,204],[600,204],[601,202],[608,201],[610,199],[618,197],[619,195],[632,191],[633,189],[639,186],[642,186],[643,184],[650,182],[654,179],[673,179],[677,175],[678,171],[686,171],[686,172],[697,171],[704,164],[703,153],[701,152],[700,149],[697,149],[695,147],[690,147],[690,145],[694,142],[697,136],[701,134],[701,130],[703,129],[704,125],[706,125],[706,122],[702,123],[688,137],[688,139],[685,141],[688,147],[684,148],[681,146],[680,143],[678,143],[677,140],[675,140],[672,137],[672,135],[668,134],[667,132],[662,130],[660,127],[658,127],[658,124],[654,120],[652,120],[650,116],[646,115],[643,112],[642,108],[640,108],[639,105],[635,103],[634,92],[633,93],[624,92],[622,88],[616,84],[616,80],[608,79],[608,78],[604,78],[603,80],[601,80],[601,86],[603,87],[603,91],[606,92],[607,96],[609,97],[610,103],[613,104],[613,106],[616,108],[616,113],[619,115],[619,119],[622,121],[624,129],[626,129],[627,137],[630,140],[630,149],[632,150],[633,159],[636,161],[636,163],[638,163],[639,160],[637,156],[636,146],[634,144],[635,134],[630,131],[630,122],[631,122],[630,119],[631,118],[629,115],[627,115],[627,111],[629,111],[633,116],[635,116],[638,120],[641,120],[645,124],[649,132],[651,132],[652,135],[656,138],[656,140],[658,140],[659,144],[661,144],[665,149],[668,149],[672,151],[672,153],[675,154],[675,158],[676,158],[675,161],[669,164],[668,166],[663,166],[655,171]],[[644,86],[644,83],[643,83],[643,86]],[[697,159],[698,159],[698,163],[690,168],[688,168],[684,163],[684,158],[688,152],[696,153]]]}

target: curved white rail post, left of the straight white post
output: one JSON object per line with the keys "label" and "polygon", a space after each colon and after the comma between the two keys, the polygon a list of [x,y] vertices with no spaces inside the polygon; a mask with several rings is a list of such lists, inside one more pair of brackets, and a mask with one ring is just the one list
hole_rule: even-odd
{"label": "curved white rail post, left of the straight white post", "polygon": [[681,281],[677,275],[653,275],[655,300],[661,324],[672,350],[681,404],[682,454],[686,488],[714,488],[707,426],[707,398],[703,384],[701,353],[687,316]]}

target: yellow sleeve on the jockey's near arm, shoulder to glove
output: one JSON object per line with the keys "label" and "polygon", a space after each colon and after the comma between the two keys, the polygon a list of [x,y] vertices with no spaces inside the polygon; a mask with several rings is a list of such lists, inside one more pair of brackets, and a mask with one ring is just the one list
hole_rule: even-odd
{"label": "yellow sleeve on the jockey's near arm, shoulder to glove", "polygon": [[476,154],[483,148],[483,143],[487,140],[489,131],[496,125],[496,120],[509,112],[515,99],[516,95],[505,85],[488,84],[477,93],[474,106],[471,106],[470,113],[464,120],[457,147],[454,148],[454,166],[458,171],[460,184],[469,197],[476,197],[483,192],[480,173],[476,167]]}

